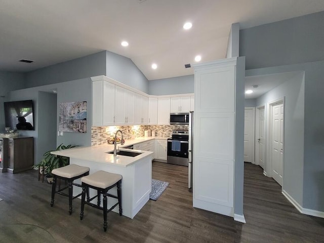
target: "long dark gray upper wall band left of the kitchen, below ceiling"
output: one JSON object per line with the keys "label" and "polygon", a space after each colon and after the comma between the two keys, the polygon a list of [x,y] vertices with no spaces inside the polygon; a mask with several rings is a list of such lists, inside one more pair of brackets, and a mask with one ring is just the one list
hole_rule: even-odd
{"label": "long dark gray upper wall band left of the kitchen, below ceiling", "polygon": [[97,75],[106,75],[106,51],[27,72],[26,87],[57,84]]}

